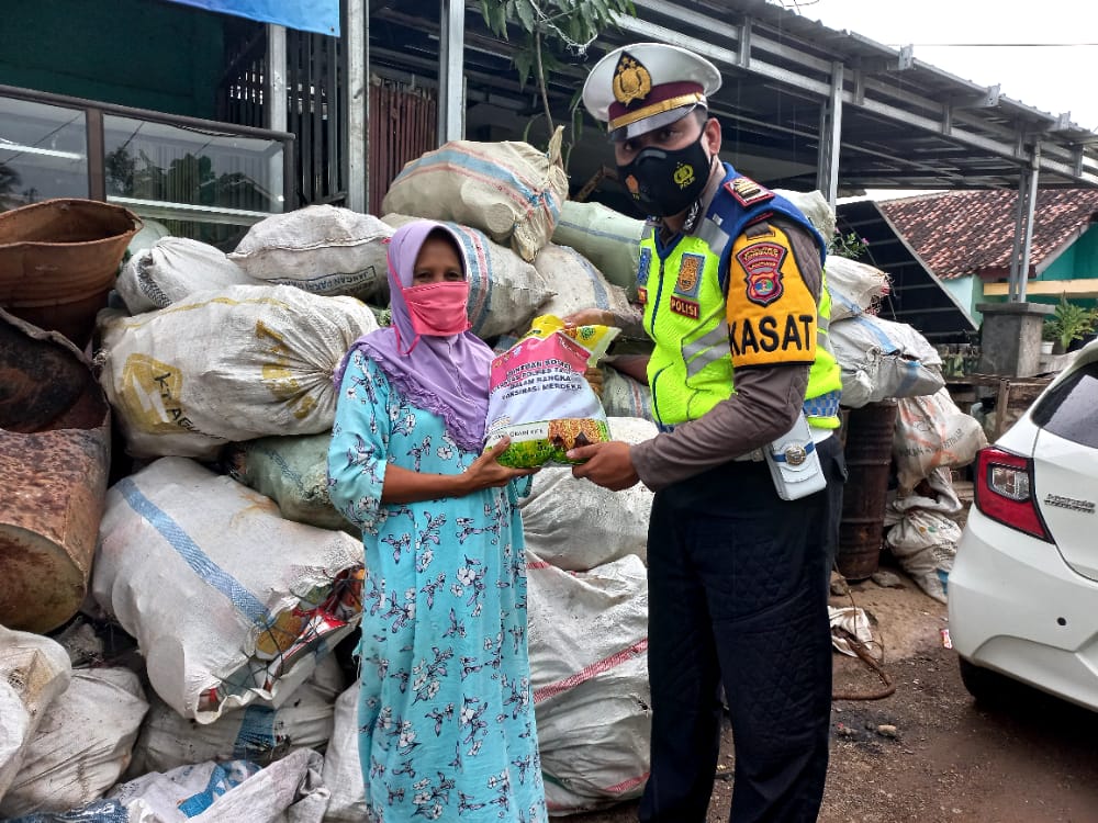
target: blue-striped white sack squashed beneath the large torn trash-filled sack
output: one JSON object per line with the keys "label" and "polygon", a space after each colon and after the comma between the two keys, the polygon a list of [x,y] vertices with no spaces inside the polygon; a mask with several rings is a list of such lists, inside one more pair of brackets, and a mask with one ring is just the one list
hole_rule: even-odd
{"label": "blue-striped white sack squashed beneath the large torn trash-filled sack", "polygon": [[324,679],[318,680],[324,669],[328,670],[324,679],[333,679],[333,669],[341,678],[339,664],[328,655],[306,683],[289,695],[280,695],[279,706],[256,702],[201,725],[154,695],[128,774],[168,771],[203,760],[242,759],[267,766],[296,748],[323,749],[332,736],[338,694],[327,688]]}

